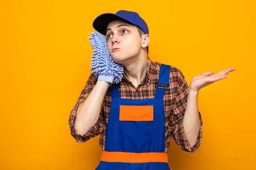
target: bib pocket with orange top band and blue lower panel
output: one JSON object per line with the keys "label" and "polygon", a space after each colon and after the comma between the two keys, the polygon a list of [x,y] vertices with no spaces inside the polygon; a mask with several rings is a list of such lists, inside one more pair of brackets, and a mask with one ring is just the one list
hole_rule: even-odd
{"label": "bib pocket with orange top band and blue lower panel", "polygon": [[154,111],[152,105],[120,105],[119,148],[123,152],[148,152]]}

